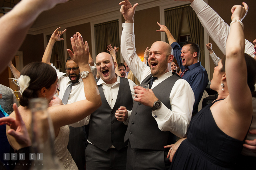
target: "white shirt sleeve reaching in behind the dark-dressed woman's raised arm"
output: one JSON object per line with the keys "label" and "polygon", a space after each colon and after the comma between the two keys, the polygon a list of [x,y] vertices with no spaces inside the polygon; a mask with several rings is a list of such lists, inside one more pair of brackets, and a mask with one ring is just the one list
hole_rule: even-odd
{"label": "white shirt sleeve reaching in behind the dark-dressed woman's raised arm", "polygon": [[[196,12],[204,29],[225,55],[226,40],[230,32],[229,25],[203,0],[195,0],[190,6]],[[245,39],[245,53],[254,57],[254,52],[254,45]]]}

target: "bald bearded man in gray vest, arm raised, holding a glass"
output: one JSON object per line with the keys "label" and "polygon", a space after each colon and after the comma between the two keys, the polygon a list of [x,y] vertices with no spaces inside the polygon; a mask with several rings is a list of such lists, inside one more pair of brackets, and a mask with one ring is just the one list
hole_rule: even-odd
{"label": "bald bearded man in gray vest, arm raised, holding a glass", "polygon": [[119,3],[126,23],[123,23],[121,52],[124,60],[140,83],[135,86],[135,99],[124,138],[128,141],[126,170],[169,169],[169,148],[176,136],[186,136],[190,124],[194,93],[187,81],[172,75],[173,49],[165,42],[152,44],[146,66],[135,51],[133,16],[138,4],[128,0]]}

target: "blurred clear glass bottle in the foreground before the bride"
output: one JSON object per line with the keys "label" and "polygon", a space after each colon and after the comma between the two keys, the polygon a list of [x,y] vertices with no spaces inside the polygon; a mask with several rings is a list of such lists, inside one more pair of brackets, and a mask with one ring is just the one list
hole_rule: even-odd
{"label": "blurred clear glass bottle in the foreground before the bride", "polygon": [[[48,101],[43,98],[31,99],[29,108],[32,112],[31,132],[32,150],[35,153],[32,170],[63,170],[54,151],[55,133],[52,119],[47,111]],[[38,166],[41,165],[41,166]]]}

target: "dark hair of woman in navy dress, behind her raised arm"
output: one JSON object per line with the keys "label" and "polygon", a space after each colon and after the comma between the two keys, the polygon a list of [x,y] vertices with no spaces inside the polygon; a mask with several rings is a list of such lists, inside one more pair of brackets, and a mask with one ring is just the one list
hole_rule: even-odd
{"label": "dark hair of woman in navy dress, behind her raised arm", "polygon": [[[247,84],[251,90],[252,97],[256,97],[255,86],[256,83],[256,61],[249,54],[245,54],[245,62],[247,67]],[[225,72],[226,56],[222,59],[221,72]],[[239,68],[238,68],[239,69]],[[238,80],[239,81],[239,80]]]}

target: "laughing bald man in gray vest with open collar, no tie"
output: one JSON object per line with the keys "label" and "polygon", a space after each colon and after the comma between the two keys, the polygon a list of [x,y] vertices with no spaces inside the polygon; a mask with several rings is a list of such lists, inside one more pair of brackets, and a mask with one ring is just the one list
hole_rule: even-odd
{"label": "laughing bald man in gray vest with open collar, no tie", "polygon": [[128,141],[124,141],[124,135],[131,113],[127,110],[133,107],[135,83],[117,76],[116,67],[117,63],[110,54],[97,55],[96,68],[100,79],[96,82],[102,105],[90,117],[86,170],[126,169]]}

